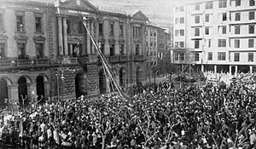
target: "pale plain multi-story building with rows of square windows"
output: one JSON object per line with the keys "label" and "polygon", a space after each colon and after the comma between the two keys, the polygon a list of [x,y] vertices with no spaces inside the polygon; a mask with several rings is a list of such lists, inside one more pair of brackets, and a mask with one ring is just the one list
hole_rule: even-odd
{"label": "pale plain multi-story building with rows of square windows", "polygon": [[253,72],[256,65],[254,0],[213,0],[173,9],[173,63],[201,71]]}

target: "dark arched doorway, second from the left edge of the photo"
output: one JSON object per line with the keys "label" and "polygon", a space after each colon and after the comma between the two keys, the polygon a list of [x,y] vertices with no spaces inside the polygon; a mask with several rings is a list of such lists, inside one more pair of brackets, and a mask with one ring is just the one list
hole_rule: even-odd
{"label": "dark arched doorway, second from the left edge of the photo", "polygon": [[[26,99],[26,96],[27,96],[27,86],[26,86],[26,78],[25,77],[20,77],[20,79],[18,80],[18,84],[19,84],[19,87],[18,87],[18,90],[19,90],[19,102],[20,102],[20,106],[24,106],[26,107],[27,104],[28,104],[28,100]],[[23,101],[22,101],[22,98],[23,99],[26,99],[24,100],[24,105],[23,105]]]}

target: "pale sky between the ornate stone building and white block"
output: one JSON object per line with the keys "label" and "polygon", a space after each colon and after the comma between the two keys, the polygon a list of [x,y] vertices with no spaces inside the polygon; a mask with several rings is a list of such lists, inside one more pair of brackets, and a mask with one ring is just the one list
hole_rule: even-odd
{"label": "pale sky between the ornate stone building and white block", "polygon": [[172,6],[198,0],[89,0],[95,6],[124,9],[126,14],[142,10],[156,26],[172,26]]}

